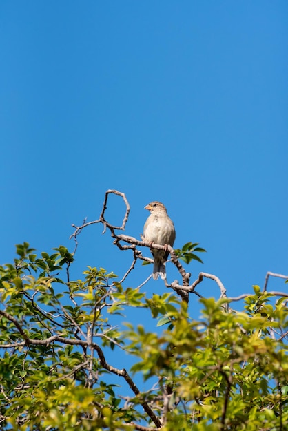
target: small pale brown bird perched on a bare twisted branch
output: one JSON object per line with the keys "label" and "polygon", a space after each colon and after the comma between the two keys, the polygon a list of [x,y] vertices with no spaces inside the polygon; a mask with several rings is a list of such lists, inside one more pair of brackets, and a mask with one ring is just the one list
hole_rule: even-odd
{"label": "small pale brown bird perched on a bare twisted branch", "polygon": [[[167,210],[161,202],[151,202],[147,204],[145,209],[149,209],[150,216],[147,218],[143,236],[146,241],[154,242],[159,245],[173,246],[176,232],[174,224],[167,214]],[[165,262],[168,258],[169,252],[165,250],[152,250],[154,257],[153,278],[157,280],[158,275],[165,280],[166,268]]]}

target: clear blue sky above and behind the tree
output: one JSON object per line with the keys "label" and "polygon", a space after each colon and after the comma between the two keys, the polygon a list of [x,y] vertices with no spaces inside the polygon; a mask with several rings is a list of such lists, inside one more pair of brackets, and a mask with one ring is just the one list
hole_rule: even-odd
{"label": "clear blue sky above and behind the tree", "polygon": [[[288,273],[286,0],[3,0],[0,41],[1,264],[23,241],[72,251],[71,224],[99,218],[118,189],[128,235],[160,200],[176,248],[207,249],[192,281],[214,273],[235,296]],[[121,211],[115,199],[114,220]],[[79,236],[75,276],[130,265],[101,231]],[[126,285],[151,270],[139,264]],[[211,281],[198,291],[218,297]]]}

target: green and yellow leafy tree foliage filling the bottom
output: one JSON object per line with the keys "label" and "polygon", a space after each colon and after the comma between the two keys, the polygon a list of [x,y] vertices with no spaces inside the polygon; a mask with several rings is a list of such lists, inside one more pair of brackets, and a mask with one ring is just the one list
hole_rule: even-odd
{"label": "green and yellow leafy tree foliage filling the bottom", "polygon": [[[20,244],[0,266],[1,429],[285,430],[287,298],[254,286],[243,311],[200,299],[195,320],[178,297],[123,288],[102,268],[68,281],[73,255],[54,251]],[[152,330],[124,326],[130,308],[150,313]]]}

